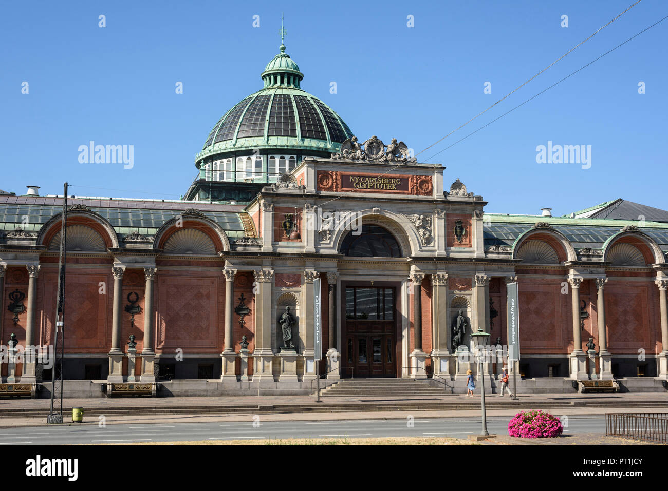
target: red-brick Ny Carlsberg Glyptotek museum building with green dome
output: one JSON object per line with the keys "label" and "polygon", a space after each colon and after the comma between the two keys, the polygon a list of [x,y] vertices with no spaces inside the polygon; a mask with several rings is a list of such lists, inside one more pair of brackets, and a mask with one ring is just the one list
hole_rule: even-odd
{"label": "red-brick Ny Carlsberg Glyptotek museum building with green dome", "polygon": [[[315,363],[327,384],[418,378],[464,392],[471,369],[494,385],[502,361],[479,369],[462,353],[478,328],[508,344],[508,283],[519,392],[591,379],[665,390],[665,211],[620,199],[564,217],[485,213],[403,142],[358,141],[301,88],[285,45],[261,77],[206,137],[184,199],[69,197],[66,394],[129,382],[306,394]],[[53,344],[61,202],[36,186],[0,191],[4,343]],[[43,360],[1,362],[3,382],[49,392]]]}

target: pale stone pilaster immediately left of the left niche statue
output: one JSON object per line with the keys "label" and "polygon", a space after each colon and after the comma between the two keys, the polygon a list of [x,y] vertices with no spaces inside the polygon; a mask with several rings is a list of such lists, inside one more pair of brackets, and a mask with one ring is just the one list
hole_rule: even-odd
{"label": "pale stone pilaster immediately left of the left niche statue", "polygon": [[273,384],[274,352],[271,349],[271,333],[274,324],[271,315],[271,287],[273,270],[255,270],[255,351],[253,352],[253,382]]}

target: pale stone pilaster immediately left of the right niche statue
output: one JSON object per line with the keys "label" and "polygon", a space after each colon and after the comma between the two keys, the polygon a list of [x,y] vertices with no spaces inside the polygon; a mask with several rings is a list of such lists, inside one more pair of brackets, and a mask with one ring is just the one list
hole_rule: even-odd
{"label": "pale stone pilaster immediately left of the right niche statue", "polygon": [[448,321],[448,274],[432,274],[432,369],[450,380],[450,322]]}

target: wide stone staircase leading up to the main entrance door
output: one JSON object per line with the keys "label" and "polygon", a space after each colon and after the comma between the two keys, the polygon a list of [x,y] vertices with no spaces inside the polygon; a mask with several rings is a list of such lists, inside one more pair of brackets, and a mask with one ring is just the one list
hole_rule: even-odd
{"label": "wide stone staircase leading up to the main entrance door", "polygon": [[345,378],[327,387],[322,396],[397,396],[429,397],[447,396],[445,386],[434,386],[412,378]]}

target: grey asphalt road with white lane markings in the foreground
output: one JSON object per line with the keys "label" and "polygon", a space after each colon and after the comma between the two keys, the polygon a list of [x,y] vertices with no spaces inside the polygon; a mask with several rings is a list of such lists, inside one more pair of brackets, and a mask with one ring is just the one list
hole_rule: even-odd
{"label": "grey asphalt road with white lane markings in the foreground", "polygon": [[[257,417],[256,417],[257,418]],[[480,433],[480,418],[420,418],[339,421],[206,422],[177,424],[108,424],[6,428],[0,445],[127,444],[191,440],[261,440],[287,438],[383,438],[389,436],[451,436]],[[508,434],[508,416],[488,418],[490,433]],[[257,424],[259,423],[259,426]],[[565,433],[605,433],[603,416],[568,416]]]}

